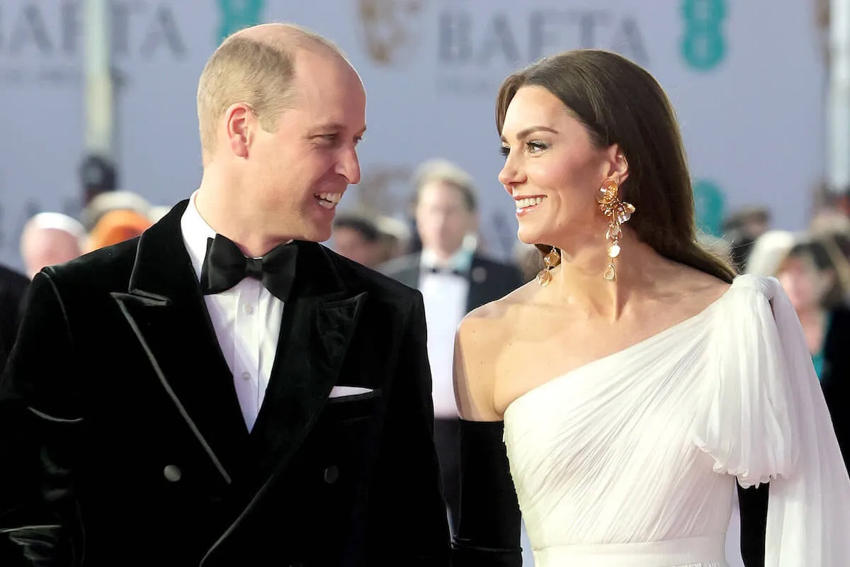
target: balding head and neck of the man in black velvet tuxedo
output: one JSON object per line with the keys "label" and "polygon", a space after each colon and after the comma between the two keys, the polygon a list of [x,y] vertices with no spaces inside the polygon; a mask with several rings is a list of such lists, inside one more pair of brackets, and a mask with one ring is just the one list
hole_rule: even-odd
{"label": "balding head and neck of the man in black velvet tuxedo", "polygon": [[340,49],[290,24],[239,31],[207,62],[197,105],[207,223],[254,256],[330,238],[365,132],[365,90]]}

